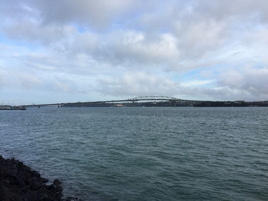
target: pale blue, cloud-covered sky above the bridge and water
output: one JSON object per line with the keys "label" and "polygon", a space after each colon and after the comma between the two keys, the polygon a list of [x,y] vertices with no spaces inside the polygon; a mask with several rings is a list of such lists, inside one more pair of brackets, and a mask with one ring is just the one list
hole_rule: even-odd
{"label": "pale blue, cloud-covered sky above the bridge and water", "polygon": [[266,0],[2,0],[4,104],[268,100]]}

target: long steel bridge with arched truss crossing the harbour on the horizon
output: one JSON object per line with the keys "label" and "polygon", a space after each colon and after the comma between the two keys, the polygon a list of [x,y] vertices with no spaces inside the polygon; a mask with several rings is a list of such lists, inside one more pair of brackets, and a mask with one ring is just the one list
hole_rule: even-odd
{"label": "long steel bridge with arched truss crossing the harbour on the horizon", "polygon": [[100,106],[106,103],[135,103],[138,101],[180,101],[180,102],[200,102],[196,100],[182,100],[179,98],[174,98],[170,96],[140,96],[135,98],[130,98],[126,100],[111,100],[111,101],[92,101],[92,102],[75,102],[75,103],[52,103],[52,104],[32,104],[32,105],[22,105],[24,107],[53,107],[53,106],[64,106],[64,105],[72,105],[72,106],[83,106],[83,105],[93,105],[99,104]]}

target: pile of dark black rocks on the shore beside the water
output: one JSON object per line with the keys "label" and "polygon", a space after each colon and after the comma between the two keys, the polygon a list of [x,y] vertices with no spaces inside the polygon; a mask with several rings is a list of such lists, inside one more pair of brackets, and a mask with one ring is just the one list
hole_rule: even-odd
{"label": "pile of dark black rocks on the shore beside the water", "polygon": [[61,181],[49,180],[19,160],[0,155],[0,201],[82,201],[77,197],[64,197]]}

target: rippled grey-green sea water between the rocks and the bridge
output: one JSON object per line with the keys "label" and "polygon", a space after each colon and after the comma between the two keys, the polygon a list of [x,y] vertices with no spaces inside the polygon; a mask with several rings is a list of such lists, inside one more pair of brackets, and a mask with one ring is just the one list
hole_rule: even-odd
{"label": "rippled grey-green sea water between the rocks and the bridge", "polygon": [[0,110],[0,155],[84,200],[268,200],[268,108]]}

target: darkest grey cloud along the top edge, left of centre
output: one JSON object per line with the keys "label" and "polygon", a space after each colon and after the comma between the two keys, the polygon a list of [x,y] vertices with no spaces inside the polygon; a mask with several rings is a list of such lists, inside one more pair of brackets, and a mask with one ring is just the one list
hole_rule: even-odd
{"label": "darkest grey cloud along the top edge, left of centre", "polygon": [[27,1],[27,4],[40,11],[44,24],[69,24],[93,26],[103,29],[114,19],[124,16],[134,9],[139,1],[132,0],[59,0],[59,1]]}

